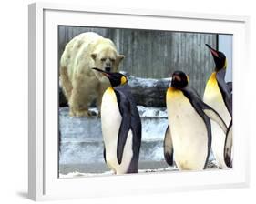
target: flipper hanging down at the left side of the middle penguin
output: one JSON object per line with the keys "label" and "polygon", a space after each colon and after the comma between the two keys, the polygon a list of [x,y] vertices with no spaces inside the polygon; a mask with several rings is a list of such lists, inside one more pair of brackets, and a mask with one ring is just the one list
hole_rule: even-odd
{"label": "flipper hanging down at the left side of the middle penguin", "polygon": [[173,166],[173,145],[169,125],[166,128],[164,138],[164,158],[166,162],[169,164],[169,166]]}

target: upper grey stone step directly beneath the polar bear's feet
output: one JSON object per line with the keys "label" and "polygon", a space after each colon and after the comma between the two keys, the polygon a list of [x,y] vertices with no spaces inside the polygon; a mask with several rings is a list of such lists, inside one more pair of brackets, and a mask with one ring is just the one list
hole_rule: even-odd
{"label": "upper grey stone step directly beneath the polar bear's feet", "polygon": [[[167,117],[143,117],[141,109],[142,140],[163,139],[168,126]],[[153,112],[152,115],[157,113]],[[162,113],[160,113],[163,115]],[[61,141],[87,142],[102,141],[99,117],[69,117],[68,108],[60,108],[59,126]]]}

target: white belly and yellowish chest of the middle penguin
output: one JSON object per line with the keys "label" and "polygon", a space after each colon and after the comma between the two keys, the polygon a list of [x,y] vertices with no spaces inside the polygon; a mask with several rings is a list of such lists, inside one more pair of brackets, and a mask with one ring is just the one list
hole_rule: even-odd
{"label": "white belly and yellowish chest of the middle penguin", "polygon": [[208,154],[208,134],[203,119],[189,99],[180,94],[169,97],[167,107],[176,164],[183,170],[203,169]]}

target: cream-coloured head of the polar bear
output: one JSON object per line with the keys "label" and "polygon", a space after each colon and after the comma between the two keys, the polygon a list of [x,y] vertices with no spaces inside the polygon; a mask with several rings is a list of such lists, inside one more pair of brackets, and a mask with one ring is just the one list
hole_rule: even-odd
{"label": "cream-coloured head of the polar bear", "polygon": [[[125,56],[119,55],[115,46],[111,44],[99,44],[95,51],[91,54],[94,61],[94,66],[98,69],[108,72],[118,72],[119,63]],[[104,77],[100,73],[95,72],[100,79]]]}

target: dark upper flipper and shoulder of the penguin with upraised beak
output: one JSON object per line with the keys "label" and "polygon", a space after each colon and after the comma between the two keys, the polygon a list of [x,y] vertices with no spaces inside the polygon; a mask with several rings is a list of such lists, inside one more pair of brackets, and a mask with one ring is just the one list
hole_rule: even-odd
{"label": "dark upper flipper and shoulder of the penguin with upraised beak", "polygon": [[221,96],[223,97],[224,103],[230,113],[230,116],[232,116],[232,94],[230,92],[230,87],[225,82],[225,75],[226,70],[223,68],[217,72],[216,78],[218,86],[220,87]]}

